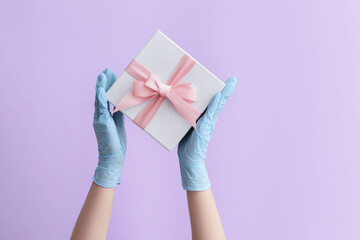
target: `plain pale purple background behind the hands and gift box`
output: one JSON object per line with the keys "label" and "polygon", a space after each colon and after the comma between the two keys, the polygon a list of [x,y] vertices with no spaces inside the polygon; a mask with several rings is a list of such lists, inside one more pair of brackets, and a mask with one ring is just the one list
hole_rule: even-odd
{"label": "plain pale purple background behind the hands and gift box", "polygon": [[[207,167],[228,239],[360,239],[358,1],[0,2],[0,239],[67,239],[97,75],[156,29],[238,86]],[[176,151],[126,120],[109,239],[190,239]],[[141,147],[141,150],[139,148]]]}

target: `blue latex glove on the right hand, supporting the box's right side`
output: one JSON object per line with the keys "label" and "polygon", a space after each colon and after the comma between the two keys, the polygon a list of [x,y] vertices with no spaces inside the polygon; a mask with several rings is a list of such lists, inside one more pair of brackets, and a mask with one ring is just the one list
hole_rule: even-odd
{"label": "blue latex glove on the right hand, supporting the box's right side", "polygon": [[178,156],[185,190],[203,191],[211,187],[205,168],[206,150],[219,113],[234,91],[236,82],[235,77],[226,80],[225,87],[213,97],[205,114],[197,122],[196,129],[189,131],[179,143]]}

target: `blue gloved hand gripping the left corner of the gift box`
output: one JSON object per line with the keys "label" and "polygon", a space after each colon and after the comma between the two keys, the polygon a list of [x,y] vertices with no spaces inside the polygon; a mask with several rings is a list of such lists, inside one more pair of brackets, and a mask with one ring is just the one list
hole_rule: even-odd
{"label": "blue gloved hand gripping the left corner of the gift box", "polygon": [[120,184],[126,153],[124,116],[119,111],[111,115],[106,96],[106,91],[115,80],[116,76],[110,69],[99,75],[93,122],[99,150],[99,163],[93,180],[97,185],[107,188]]}

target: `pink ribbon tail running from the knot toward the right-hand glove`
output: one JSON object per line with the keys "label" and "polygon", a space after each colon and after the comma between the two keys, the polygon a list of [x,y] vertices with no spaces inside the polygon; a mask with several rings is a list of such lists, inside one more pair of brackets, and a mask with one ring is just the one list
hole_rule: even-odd
{"label": "pink ribbon tail running from the knot toward the right-hand glove", "polygon": [[196,129],[196,120],[200,116],[199,110],[174,93],[168,94],[167,97],[180,116]]}

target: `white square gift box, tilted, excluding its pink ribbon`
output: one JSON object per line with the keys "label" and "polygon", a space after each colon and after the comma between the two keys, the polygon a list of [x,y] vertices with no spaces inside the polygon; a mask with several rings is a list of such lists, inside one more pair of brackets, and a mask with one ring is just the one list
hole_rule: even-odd
{"label": "white square gift box, tilted, excluding its pink ribbon", "polygon": [[[158,30],[134,60],[166,84],[184,54],[189,55]],[[117,106],[123,97],[133,90],[134,81],[136,81],[136,79],[124,71],[107,91],[109,102]],[[224,87],[222,81],[197,61],[194,67],[179,83],[192,83],[196,86],[197,99],[190,104],[196,107],[200,113],[206,110],[212,97]],[[121,112],[134,121],[135,117],[150,101],[151,100],[148,100],[147,102],[122,109]],[[175,110],[172,103],[165,98],[155,116],[144,128],[144,131],[150,134],[150,136],[166,149],[172,151],[191,127],[191,124],[188,123]]]}

